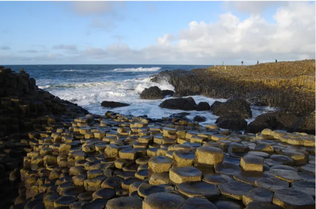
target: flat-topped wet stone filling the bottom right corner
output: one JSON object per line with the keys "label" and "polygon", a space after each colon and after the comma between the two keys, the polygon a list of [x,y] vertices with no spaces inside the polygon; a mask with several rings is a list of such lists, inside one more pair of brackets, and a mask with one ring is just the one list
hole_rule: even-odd
{"label": "flat-topped wet stone filling the bottom right corner", "polygon": [[310,194],[293,188],[275,191],[272,203],[283,208],[315,208],[315,201]]}

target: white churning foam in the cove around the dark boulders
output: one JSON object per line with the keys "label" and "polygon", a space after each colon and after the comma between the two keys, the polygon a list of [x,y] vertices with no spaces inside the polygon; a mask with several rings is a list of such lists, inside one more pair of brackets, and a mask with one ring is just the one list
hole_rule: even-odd
{"label": "white churning foam in the cove around the dark boulders", "polygon": [[[64,86],[61,88],[60,86]],[[207,118],[207,121],[200,123],[201,125],[214,124],[217,116],[213,115],[209,111],[183,111],[183,110],[169,110],[159,107],[160,103],[165,99],[140,99],[139,94],[150,86],[158,86],[162,90],[173,90],[174,86],[169,84],[166,79],[162,79],[160,83],[150,82],[150,78],[139,79],[127,79],[123,81],[107,81],[107,82],[90,82],[90,83],[69,83],[63,85],[47,85],[39,86],[49,88],[50,92],[61,99],[73,100],[79,106],[87,109],[89,112],[99,115],[104,115],[107,108],[101,107],[102,101],[119,101],[130,104],[128,107],[115,108],[117,113],[131,114],[134,116],[147,115],[150,118],[160,119],[162,117],[168,117],[171,114],[188,112],[189,119],[193,119],[194,116],[200,115]],[[129,90],[128,90],[129,89]],[[226,99],[213,99],[202,95],[192,96],[196,103],[200,101],[206,101],[210,105],[216,100],[226,101]],[[247,122],[251,122],[258,115],[273,111],[275,109],[268,107],[251,107],[253,111],[253,118],[247,119]]]}

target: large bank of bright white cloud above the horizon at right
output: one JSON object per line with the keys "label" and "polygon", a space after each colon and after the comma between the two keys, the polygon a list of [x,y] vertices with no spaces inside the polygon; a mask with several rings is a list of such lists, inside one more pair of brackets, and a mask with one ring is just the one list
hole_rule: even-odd
{"label": "large bank of bright white cloud above the horizon at right", "polygon": [[206,65],[222,61],[225,64],[240,64],[243,60],[248,65],[255,64],[257,60],[261,63],[273,62],[274,59],[315,59],[315,3],[288,2],[277,9],[273,18],[275,21],[270,23],[262,15],[252,14],[240,20],[233,13],[225,13],[220,15],[217,22],[191,21],[188,28],[177,34],[162,34],[155,43],[141,49],[131,48],[122,41],[84,50],[76,50],[76,45],[58,45],[54,47],[73,50],[76,54],[44,56],[44,60],[56,58],[70,63]]}

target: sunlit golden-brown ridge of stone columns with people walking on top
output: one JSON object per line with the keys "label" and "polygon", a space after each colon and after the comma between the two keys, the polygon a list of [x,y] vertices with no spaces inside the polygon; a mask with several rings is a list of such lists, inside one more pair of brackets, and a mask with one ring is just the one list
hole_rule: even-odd
{"label": "sunlit golden-brown ridge of stone columns with people walking on top", "polygon": [[257,105],[300,115],[315,110],[315,60],[163,71],[151,81],[166,78],[177,91],[190,89],[213,98],[246,97]]}

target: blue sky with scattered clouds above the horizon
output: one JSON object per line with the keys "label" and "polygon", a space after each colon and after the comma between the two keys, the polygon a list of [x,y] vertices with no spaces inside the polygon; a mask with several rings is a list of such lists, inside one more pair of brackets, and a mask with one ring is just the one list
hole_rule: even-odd
{"label": "blue sky with scattered clouds above the horizon", "polygon": [[315,59],[315,2],[0,2],[0,65]]}

